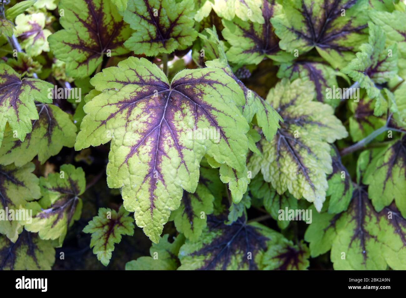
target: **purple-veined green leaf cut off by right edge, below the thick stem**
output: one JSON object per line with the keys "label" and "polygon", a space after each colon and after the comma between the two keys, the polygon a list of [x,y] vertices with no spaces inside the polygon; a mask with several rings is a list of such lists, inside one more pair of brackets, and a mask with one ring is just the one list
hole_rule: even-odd
{"label": "purple-veined green leaf cut off by right edge, below the thick stem", "polygon": [[406,136],[391,141],[371,160],[363,183],[376,211],[395,200],[397,209],[406,217]]}

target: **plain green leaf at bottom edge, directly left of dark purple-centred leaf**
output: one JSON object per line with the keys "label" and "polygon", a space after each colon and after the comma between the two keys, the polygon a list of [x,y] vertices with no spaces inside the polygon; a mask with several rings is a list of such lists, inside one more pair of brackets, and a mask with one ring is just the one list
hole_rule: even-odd
{"label": "plain green leaf at bottom edge, directly left of dark purple-centred leaf", "polygon": [[152,243],[149,249],[151,257],[139,257],[127,262],[125,270],[176,270],[179,267],[179,259],[176,256],[185,243],[185,237],[179,234],[169,243],[168,236],[164,235],[158,244]]}

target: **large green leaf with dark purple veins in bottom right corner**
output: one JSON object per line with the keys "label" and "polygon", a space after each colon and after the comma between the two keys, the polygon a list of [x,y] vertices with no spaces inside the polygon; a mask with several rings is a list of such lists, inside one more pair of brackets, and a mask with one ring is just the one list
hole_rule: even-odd
{"label": "large green leaf with dark purple veins in bottom right corner", "polygon": [[[313,210],[314,211],[314,210]],[[313,212],[304,239],[311,257],[331,249],[335,270],[406,269],[406,220],[394,205],[376,212],[365,186],[356,187],[347,211]]]}

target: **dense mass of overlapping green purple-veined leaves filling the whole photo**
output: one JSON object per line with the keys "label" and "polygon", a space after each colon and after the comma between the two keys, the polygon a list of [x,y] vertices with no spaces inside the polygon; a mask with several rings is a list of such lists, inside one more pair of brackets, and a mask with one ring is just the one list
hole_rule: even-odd
{"label": "dense mass of overlapping green purple-veined leaves filling the whole photo", "polygon": [[[335,269],[406,269],[405,17],[402,1],[0,4],[0,268],[50,269],[75,232],[110,266],[134,217],[153,243],[127,270],[306,270],[328,251]],[[103,206],[97,183],[119,190]]]}

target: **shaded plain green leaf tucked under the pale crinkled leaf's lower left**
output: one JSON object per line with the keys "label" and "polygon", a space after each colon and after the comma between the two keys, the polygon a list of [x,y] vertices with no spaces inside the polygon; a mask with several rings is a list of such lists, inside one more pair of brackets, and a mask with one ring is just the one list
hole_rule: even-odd
{"label": "shaded plain green leaf tucked under the pale crinkled leaf's lower left", "polygon": [[276,220],[278,227],[286,229],[290,221],[279,220],[279,215],[281,214],[279,210],[285,212],[286,208],[288,210],[298,209],[298,200],[287,191],[279,195],[270,183],[263,180],[261,174],[255,176],[251,181],[250,191],[254,197],[263,199],[265,210]]}

